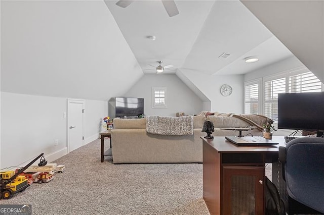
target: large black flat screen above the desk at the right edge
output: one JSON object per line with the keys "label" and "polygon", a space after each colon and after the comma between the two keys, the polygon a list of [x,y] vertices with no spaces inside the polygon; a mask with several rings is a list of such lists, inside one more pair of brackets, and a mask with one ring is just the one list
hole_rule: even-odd
{"label": "large black flat screen above the desk at the right edge", "polygon": [[278,128],[324,130],[324,92],[279,93]]}

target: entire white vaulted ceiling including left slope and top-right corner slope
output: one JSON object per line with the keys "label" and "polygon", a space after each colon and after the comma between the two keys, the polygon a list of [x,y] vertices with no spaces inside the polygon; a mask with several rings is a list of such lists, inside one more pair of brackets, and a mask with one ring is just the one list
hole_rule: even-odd
{"label": "entire white vaulted ceiling including left slope and top-right corner slope", "polygon": [[174,17],[160,0],[116,2],[1,1],[1,90],[108,100],[156,61],[196,89],[186,71],[245,74],[292,52],[323,80],[322,1],[175,1]]}

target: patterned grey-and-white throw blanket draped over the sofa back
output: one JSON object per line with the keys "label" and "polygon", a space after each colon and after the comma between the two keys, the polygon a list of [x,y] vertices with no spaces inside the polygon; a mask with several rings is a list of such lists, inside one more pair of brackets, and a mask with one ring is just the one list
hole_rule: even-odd
{"label": "patterned grey-and-white throw blanket draped over the sofa back", "polygon": [[146,132],[161,135],[192,135],[193,117],[159,117],[146,118]]}

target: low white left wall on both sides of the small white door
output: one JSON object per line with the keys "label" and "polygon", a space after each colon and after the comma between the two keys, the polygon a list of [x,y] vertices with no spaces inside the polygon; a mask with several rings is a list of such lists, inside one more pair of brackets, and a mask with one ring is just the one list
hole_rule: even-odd
{"label": "low white left wall on both sides of the small white door", "polygon": [[[66,98],[2,92],[1,99],[1,169],[21,165],[42,152],[49,162],[66,154]],[[85,100],[85,107],[86,144],[98,138],[100,120],[108,110],[105,101]]]}

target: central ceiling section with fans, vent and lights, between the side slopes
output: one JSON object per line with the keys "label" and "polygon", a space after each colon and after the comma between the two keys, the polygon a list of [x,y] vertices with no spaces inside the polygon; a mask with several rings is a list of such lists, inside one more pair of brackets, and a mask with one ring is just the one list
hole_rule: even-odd
{"label": "central ceiling section with fans, vent and lights, between the side slopes", "polygon": [[[245,74],[292,53],[241,2],[175,1],[169,17],[161,1],[135,1],[127,8],[105,1],[144,73],[156,61],[208,75]],[[151,41],[147,36],[155,36]],[[228,58],[219,58],[222,53]],[[244,59],[256,56],[255,64]]]}

